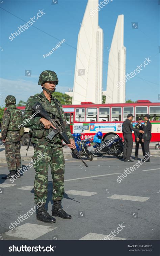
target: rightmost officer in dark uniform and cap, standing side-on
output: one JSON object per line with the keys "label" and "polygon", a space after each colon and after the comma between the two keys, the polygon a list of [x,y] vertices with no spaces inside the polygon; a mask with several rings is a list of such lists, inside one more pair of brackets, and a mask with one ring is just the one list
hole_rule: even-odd
{"label": "rightmost officer in dark uniform and cap, standing side-on", "polygon": [[[143,131],[144,134],[142,136],[142,141],[144,142],[144,153],[145,155],[150,154],[150,148],[149,148],[149,144],[150,144],[150,140],[151,140],[151,130],[152,130],[152,124],[149,121],[150,119],[150,115],[146,114],[144,116],[145,122],[144,122],[144,127],[143,127]],[[150,158],[148,160],[145,160],[145,162],[150,162]]]}

